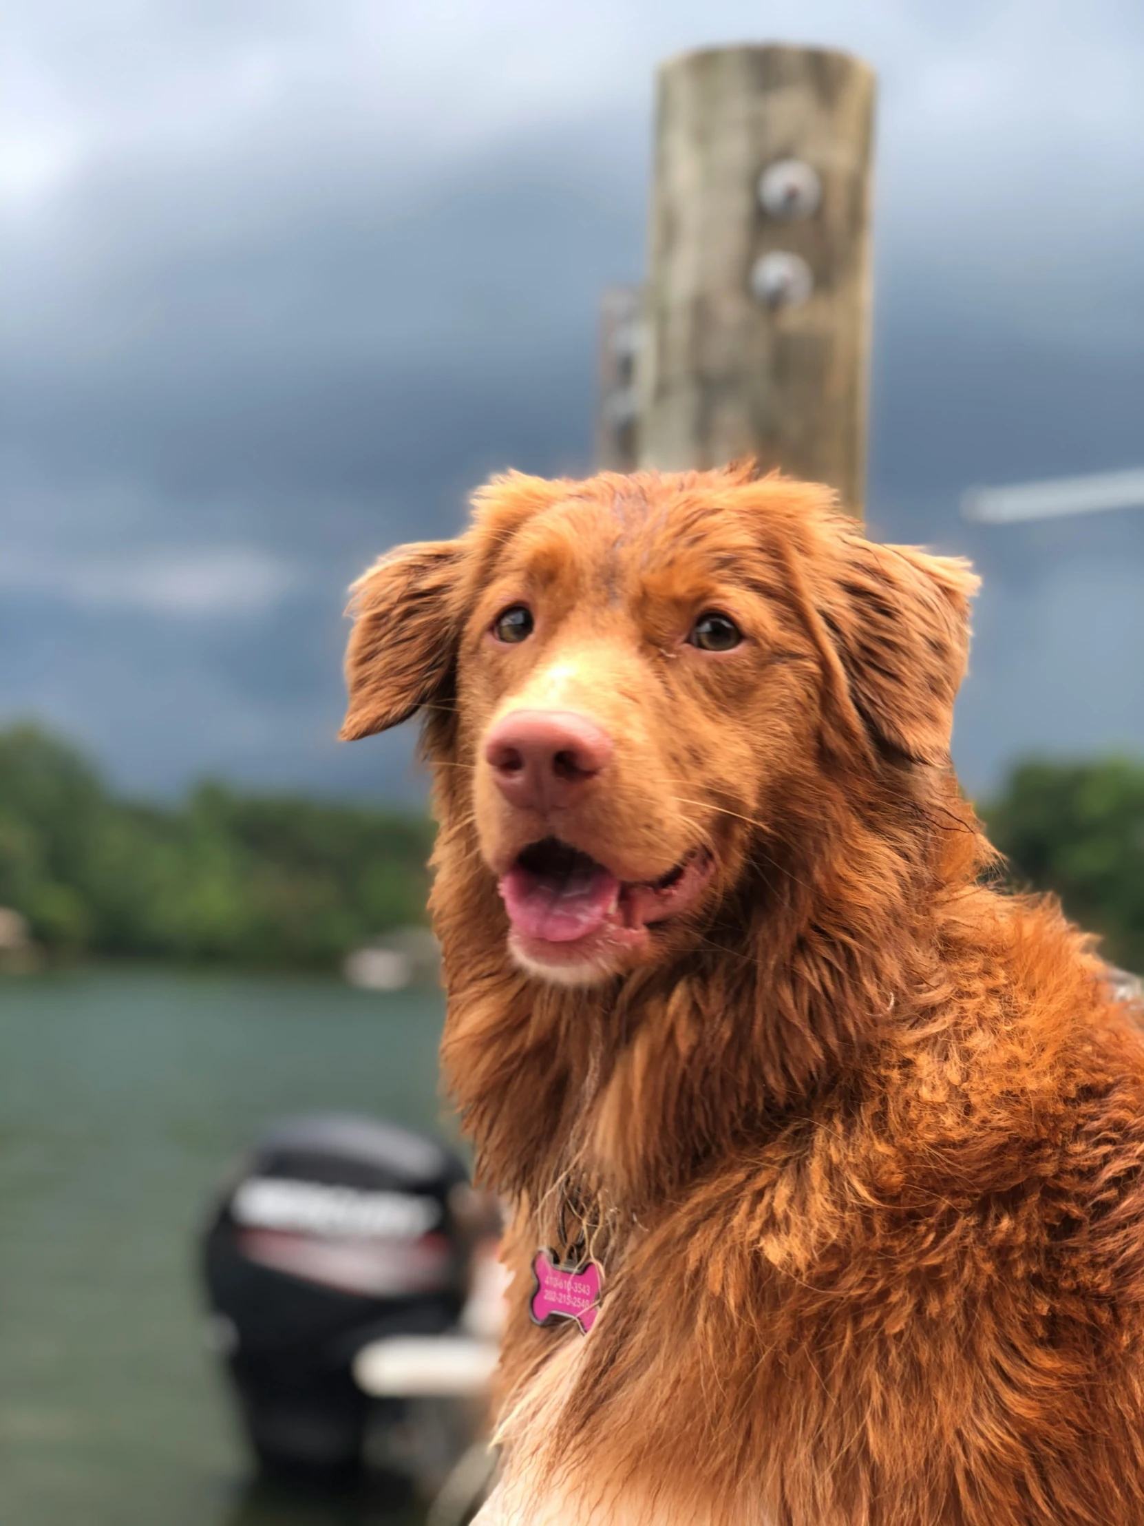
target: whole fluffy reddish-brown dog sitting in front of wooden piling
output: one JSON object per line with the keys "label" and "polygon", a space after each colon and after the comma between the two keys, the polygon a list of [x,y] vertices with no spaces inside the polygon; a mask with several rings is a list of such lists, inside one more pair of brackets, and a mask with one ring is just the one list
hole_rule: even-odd
{"label": "whole fluffy reddish-brown dog sitting in front of wooden piling", "polygon": [[[1144,1523],[1144,1050],[982,882],[973,588],[744,470],[508,476],[357,584],[345,736],[424,713],[514,1209],[482,1520]],[[541,1247],[587,1335],[529,1320]]]}

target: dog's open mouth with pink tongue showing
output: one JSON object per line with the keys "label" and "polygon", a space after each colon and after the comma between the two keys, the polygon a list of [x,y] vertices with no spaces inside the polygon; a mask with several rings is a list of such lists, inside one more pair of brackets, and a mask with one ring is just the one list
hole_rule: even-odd
{"label": "dog's open mouth with pink tongue showing", "polygon": [[650,926],[691,905],[712,867],[711,855],[697,848],[659,879],[621,881],[580,848],[545,838],[517,856],[499,888],[513,932],[529,945],[603,940],[631,948]]}

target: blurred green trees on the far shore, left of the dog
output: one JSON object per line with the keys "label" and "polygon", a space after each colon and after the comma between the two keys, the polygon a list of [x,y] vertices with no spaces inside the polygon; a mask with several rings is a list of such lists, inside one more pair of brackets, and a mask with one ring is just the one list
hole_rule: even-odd
{"label": "blurred green trees on the far shore, left of the dog", "polygon": [[81,752],[0,731],[0,905],[49,954],[331,966],[426,920],[426,816],[200,784],[114,795]]}

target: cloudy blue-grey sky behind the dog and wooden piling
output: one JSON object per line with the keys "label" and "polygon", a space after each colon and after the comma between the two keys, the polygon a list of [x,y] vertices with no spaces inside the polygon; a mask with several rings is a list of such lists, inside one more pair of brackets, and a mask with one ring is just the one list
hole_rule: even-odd
{"label": "cloudy blue-grey sky behind the dog and wooden piling", "polygon": [[122,787],[416,789],[339,746],[343,589],[490,470],[590,465],[653,73],[880,76],[869,519],[985,574],[956,755],[1144,749],[1144,511],[961,491],[1144,465],[1138,0],[14,0],[0,105],[0,720]]}

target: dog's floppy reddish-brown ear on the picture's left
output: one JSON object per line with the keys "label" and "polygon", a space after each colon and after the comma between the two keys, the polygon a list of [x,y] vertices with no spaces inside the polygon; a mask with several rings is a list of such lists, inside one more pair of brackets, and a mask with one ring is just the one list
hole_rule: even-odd
{"label": "dog's floppy reddish-brown ear on the picture's left", "polygon": [[387,731],[447,694],[459,632],[462,554],[456,540],[398,546],[354,583],[343,742]]}

